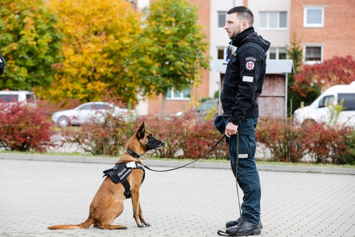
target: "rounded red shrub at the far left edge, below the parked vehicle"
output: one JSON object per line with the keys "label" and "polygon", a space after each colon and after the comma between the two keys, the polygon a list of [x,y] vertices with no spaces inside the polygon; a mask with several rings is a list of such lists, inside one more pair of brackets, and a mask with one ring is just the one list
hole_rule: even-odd
{"label": "rounded red shrub at the far left edge, below the parked vehicle", "polygon": [[0,148],[18,151],[46,151],[53,135],[45,112],[20,103],[0,103]]}

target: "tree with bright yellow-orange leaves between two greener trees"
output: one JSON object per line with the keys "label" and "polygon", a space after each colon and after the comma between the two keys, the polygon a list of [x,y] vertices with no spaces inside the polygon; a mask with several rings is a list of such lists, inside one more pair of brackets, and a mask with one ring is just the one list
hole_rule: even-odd
{"label": "tree with bright yellow-orange leaves between two greener trees", "polygon": [[[124,0],[50,0],[64,34],[64,61],[43,97],[54,101],[76,98],[100,100],[110,92],[123,101],[136,100],[138,83],[131,73],[131,58],[140,20]],[[142,52],[140,52],[142,53]]]}

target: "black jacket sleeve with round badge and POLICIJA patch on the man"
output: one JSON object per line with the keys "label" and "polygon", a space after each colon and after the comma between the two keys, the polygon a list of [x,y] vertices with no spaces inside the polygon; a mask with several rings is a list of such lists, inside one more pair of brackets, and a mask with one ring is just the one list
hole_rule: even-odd
{"label": "black jacket sleeve with round badge and POLICIJA patch on the man", "polygon": [[235,103],[232,107],[231,121],[234,125],[240,124],[245,112],[254,103],[254,94],[257,90],[257,80],[261,69],[260,52],[255,47],[247,46],[238,55],[240,84]]}

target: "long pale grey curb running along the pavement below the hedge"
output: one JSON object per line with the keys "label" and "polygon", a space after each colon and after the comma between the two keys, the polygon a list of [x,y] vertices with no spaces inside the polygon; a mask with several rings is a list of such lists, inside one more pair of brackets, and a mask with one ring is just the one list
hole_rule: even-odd
{"label": "long pale grey curb running along the pavement below the hedge", "polygon": [[[102,163],[114,164],[117,157],[87,157],[87,156],[65,156],[65,155],[41,155],[41,154],[10,154],[0,153],[0,159],[27,160],[27,161],[55,161],[55,162],[77,162],[77,163]],[[147,166],[156,167],[179,167],[187,164],[184,161],[158,161],[144,160]],[[355,169],[333,168],[333,167],[312,167],[312,166],[280,166],[280,165],[256,165],[258,170],[282,171],[300,173],[323,173],[323,174],[347,174],[355,175]],[[196,162],[186,168],[207,168],[207,169],[231,169],[229,163]]]}

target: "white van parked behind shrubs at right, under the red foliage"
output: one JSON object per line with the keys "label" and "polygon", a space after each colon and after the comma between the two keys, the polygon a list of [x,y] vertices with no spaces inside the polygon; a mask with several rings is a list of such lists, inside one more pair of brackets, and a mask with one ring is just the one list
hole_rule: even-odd
{"label": "white van parked behind shrubs at right, under the red foliage", "polygon": [[302,124],[304,121],[329,123],[329,105],[336,105],[344,100],[344,110],[340,112],[337,123],[355,127],[355,81],[350,85],[336,85],[322,93],[312,104],[296,109],[294,117]]}

